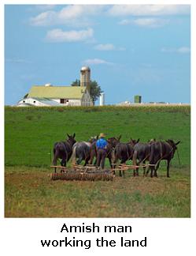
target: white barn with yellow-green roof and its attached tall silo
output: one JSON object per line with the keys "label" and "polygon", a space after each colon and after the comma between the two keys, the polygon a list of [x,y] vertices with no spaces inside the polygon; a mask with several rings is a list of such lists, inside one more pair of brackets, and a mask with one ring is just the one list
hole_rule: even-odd
{"label": "white barn with yellow-green roof and its attached tall silo", "polygon": [[17,106],[92,106],[89,67],[80,70],[80,81],[80,86],[34,85]]}

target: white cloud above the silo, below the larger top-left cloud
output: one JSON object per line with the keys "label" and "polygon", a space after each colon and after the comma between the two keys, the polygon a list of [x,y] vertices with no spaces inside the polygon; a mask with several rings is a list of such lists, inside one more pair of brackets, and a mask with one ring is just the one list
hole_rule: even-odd
{"label": "white cloud above the silo, below the larger top-left cloud", "polygon": [[77,42],[86,41],[93,37],[94,31],[92,28],[87,30],[71,30],[63,31],[60,28],[52,29],[47,32],[46,40],[50,42]]}

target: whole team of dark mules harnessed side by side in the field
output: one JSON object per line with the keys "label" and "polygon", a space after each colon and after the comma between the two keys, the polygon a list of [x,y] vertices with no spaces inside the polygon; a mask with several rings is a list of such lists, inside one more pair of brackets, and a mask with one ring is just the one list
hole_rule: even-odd
{"label": "whole team of dark mules harnessed side by side in the field", "polygon": [[[155,139],[148,142],[140,142],[139,139],[130,139],[128,142],[121,142],[119,137],[110,137],[106,141],[105,154],[99,154],[98,151],[98,136],[91,137],[89,141],[76,141],[76,134],[67,134],[66,141],[56,142],[54,144],[54,166],[57,166],[57,160],[61,159],[61,166],[66,167],[68,160],[72,164],[87,164],[104,168],[105,158],[109,159],[110,167],[115,168],[118,162],[126,164],[128,160],[132,160],[134,167],[133,174],[139,175],[139,165],[143,166],[143,175],[147,175],[150,171],[151,177],[157,177],[157,170],[161,160],[167,161],[167,177],[169,177],[169,167],[172,158],[180,141],[175,142],[171,139],[167,141],[156,141]],[[148,168],[146,171],[146,161]],[[54,168],[56,172],[56,168]],[[124,174],[124,173],[123,173]],[[122,175],[120,171],[120,175]]]}

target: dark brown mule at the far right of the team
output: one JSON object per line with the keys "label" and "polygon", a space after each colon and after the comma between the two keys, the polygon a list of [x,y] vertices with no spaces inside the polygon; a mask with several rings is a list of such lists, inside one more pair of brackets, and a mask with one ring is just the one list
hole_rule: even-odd
{"label": "dark brown mule at the far right of the team", "polygon": [[[157,169],[159,168],[161,160],[167,160],[167,177],[169,177],[169,164],[176,152],[176,145],[178,145],[179,142],[180,141],[175,143],[172,140],[157,141],[150,146],[149,164],[151,170],[151,177],[157,177]],[[147,173],[148,172],[149,170],[147,171]]]}

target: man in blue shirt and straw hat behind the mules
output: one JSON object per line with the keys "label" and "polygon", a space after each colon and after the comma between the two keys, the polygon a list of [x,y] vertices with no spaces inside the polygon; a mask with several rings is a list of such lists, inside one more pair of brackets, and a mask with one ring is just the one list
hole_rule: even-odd
{"label": "man in blue shirt and straw hat behind the mules", "polygon": [[107,156],[107,145],[108,142],[105,140],[105,134],[100,134],[99,139],[96,142],[97,147],[97,166],[101,166],[102,169],[104,169],[105,166],[105,157]]}

